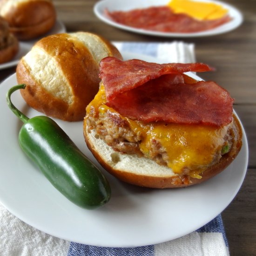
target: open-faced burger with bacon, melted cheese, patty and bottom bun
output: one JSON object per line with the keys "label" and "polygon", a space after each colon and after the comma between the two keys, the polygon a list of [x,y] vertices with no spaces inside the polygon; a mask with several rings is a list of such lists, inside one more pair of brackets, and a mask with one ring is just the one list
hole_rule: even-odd
{"label": "open-faced burger with bacon, melted cheese, patty and bottom bun", "polygon": [[94,157],[118,179],[149,188],[187,187],[222,172],[242,147],[234,99],[216,82],[185,74],[210,70],[101,60],[100,89],[83,125]]}

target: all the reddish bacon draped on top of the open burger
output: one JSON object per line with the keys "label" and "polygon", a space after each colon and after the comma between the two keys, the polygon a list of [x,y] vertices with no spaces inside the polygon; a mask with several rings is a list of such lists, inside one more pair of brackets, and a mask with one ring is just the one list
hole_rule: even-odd
{"label": "all the reddish bacon draped on top of the open burger", "polygon": [[213,81],[185,83],[183,72],[203,72],[202,63],[157,64],[106,57],[100,63],[107,105],[133,120],[227,125],[233,99]]}

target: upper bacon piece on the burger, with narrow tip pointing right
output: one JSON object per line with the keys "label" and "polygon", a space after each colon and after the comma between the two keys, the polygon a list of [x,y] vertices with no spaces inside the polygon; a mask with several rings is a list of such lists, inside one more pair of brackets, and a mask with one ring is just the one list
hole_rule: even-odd
{"label": "upper bacon piece on the burger, with narrow tip pointing right", "polygon": [[[121,61],[115,57],[106,57],[100,63],[100,78],[105,85],[107,100],[111,101],[116,94],[141,86],[145,82],[158,78],[163,74],[210,70],[212,68],[203,63],[157,64],[141,60]],[[108,85],[106,86],[106,84]]]}

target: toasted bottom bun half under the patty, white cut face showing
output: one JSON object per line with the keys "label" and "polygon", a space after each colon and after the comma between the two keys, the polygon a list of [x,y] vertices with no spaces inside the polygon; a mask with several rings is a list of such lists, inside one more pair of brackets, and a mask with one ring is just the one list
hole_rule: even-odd
{"label": "toasted bottom bun half under the patty, white cut face showing", "polygon": [[234,115],[232,135],[233,146],[214,166],[206,169],[201,179],[175,174],[170,168],[158,165],[153,160],[137,155],[121,154],[114,151],[90,130],[84,121],[84,137],[88,148],[98,162],[118,179],[141,187],[178,188],[195,185],[222,172],[236,157],[242,147],[242,128]]}

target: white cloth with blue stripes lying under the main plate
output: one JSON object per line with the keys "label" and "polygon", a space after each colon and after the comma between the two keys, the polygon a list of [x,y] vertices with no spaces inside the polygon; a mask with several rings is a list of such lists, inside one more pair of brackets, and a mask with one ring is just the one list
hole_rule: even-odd
{"label": "white cloth with blue stripes lying under the main plate", "polygon": [[[195,62],[194,45],[171,43],[113,42],[122,52],[145,54],[162,63]],[[65,225],[65,223],[63,223]],[[0,256],[228,256],[229,248],[221,216],[202,228],[165,243],[108,248],[74,243],[50,236],[13,216],[0,204]]]}

